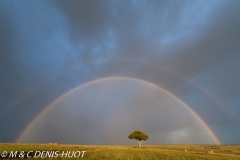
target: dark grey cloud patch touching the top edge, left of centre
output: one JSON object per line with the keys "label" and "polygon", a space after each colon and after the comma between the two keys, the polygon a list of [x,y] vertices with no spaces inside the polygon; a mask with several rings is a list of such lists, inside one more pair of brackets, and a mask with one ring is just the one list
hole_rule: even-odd
{"label": "dark grey cloud patch touching the top edge, left of centre", "polygon": [[[107,1],[106,1],[107,2]],[[70,36],[74,42],[102,37],[110,24],[109,3],[104,1],[56,1],[68,20]],[[110,1],[109,1],[110,2]]]}

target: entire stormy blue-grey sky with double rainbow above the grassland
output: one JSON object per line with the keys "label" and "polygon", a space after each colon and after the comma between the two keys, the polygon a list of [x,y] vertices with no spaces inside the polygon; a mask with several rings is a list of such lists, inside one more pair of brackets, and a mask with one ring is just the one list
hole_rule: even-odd
{"label": "entire stormy blue-grey sky with double rainbow above the grassland", "polygon": [[240,143],[240,1],[0,0],[0,142]]}

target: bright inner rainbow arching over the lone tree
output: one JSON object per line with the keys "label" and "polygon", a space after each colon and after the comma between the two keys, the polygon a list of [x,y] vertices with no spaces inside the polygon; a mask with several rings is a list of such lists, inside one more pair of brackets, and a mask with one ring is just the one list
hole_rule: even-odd
{"label": "bright inner rainbow arching over the lone tree", "polygon": [[217,144],[221,144],[220,140],[217,138],[217,136],[214,134],[214,132],[210,129],[210,127],[206,124],[206,122],[191,108],[189,107],[185,102],[183,102],[181,99],[179,99],[177,96],[175,96],[174,94],[172,94],[171,92],[169,92],[168,90],[145,80],[141,80],[141,79],[137,79],[137,78],[132,78],[132,77],[106,77],[106,78],[100,78],[100,79],[95,79],[92,81],[88,81],[86,83],[83,83],[69,91],[67,91],[66,93],[62,94],[61,96],[59,96],[57,99],[55,99],[53,102],[51,102],[48,106],[46,106],[31,122],[30,124],[27,125],[27,127],[23,130],[23,132],[20,134],[20,136],[17,138],[16,142],[19,142],[22,138],[22,136],[25,134],[25,132],[27,132],[27,130],[34,124],[34,122],[45,112],[47,111],[53,104],[55,104],[56,102],[58,102],[61,98],[63,98],[64,96],[68,95],[69,93],[71,93],[74,90],[79,89],[80,87],[83,87],[85,85],[100,81],[100,80],[109,80],[109,79],[129,79],[129,80],[137,80],[140,82],[144,82],[147,83],[151,86],[157,87],[161,90],[163,90],[164,92],[166,92],[167,94],[169,94],[170,96],[172,96],[174,99],[178,100],[184,107],[186,107],[196,118],[197,120],[204,126],[204,128],[208,131],[208,133],[213,137],[214,141]]}

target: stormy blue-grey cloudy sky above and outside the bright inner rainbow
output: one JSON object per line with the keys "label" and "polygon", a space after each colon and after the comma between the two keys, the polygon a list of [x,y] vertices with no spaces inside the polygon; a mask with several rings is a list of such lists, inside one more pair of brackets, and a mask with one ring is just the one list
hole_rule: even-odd
{"label": "stormy blue-grey cloudy sky above and outside the bright inner rainbow", "polygon": [[107,76],[162,86],[216,131],[219,122],[238,126],[195,85],[238,116],[239,1],[1,1],[0,9],[1,125],[19,122],[1,141],[64,92]]}

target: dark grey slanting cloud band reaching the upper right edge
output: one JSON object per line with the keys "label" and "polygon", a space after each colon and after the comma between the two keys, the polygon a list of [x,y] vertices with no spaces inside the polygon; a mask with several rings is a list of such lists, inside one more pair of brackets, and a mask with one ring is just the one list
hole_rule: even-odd
{"label": "dark grey slanting cloud band reaching the upper right edge", "polygon": [[178,72],[190,77],[219,65],[229,58],[239,58],[240,22],[237,16],[240,13],[239,4],[232,4],[231,7],[228,6],[217,13],[209,17],[214,23],[208,25],[209,29],[204,36],[184,46],[174,60],[170,60]]}

